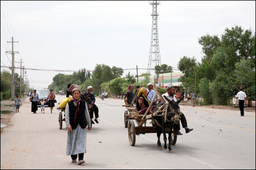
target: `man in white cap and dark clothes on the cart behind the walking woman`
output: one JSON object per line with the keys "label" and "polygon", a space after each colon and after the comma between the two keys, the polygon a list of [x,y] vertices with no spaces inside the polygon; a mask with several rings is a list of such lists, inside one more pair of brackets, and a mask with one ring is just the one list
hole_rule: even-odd
{"label": "man in white cap and dark clothes on the cart behind the walking woman", "polygon": [[94,96],[94,93],[93,93],[93,87],[92,86],[88,86],[87,87],[87,90],[85,93],[84,93],[84,96],[88,96],[89,95],[89,98],[90,99],[87,99],[86,101],[92,106],[91,107],[91,111],[90,111],[90,118],[91,118],[91,123],[94,124],[93,122],[93,112],[95,114],[95,122],[98,124],[98,117],[99,117],[99,109],[98,107],[95,105],[95,96]]}

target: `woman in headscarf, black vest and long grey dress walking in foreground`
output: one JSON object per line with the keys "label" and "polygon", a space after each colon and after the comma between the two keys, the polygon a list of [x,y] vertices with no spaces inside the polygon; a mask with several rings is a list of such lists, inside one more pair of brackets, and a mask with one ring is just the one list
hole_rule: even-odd
{"label": "woman in headscarf, black vest and long grey dress walking in foreground", "polygon": [[66,126],[68,127],[67,155],[71,155],[72,163],[84,163],[83,154],[86,153],[87,130],[90,131],[91,121],[87,103],[80,98],[79,88],[72,90],[71,101],[66,106]]}

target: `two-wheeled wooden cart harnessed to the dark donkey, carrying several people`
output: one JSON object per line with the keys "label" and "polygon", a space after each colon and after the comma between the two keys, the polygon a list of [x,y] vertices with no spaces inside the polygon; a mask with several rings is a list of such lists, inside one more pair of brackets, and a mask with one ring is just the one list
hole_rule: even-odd
{"label": "two-wheeled wooden cart harnessed to the dark donkey, carrying several people", "polygon": [[[146,134],[146,133],[157,133],[157,128],[156,128],[155,124],[158,124],[158,122],[156,122],[156,120],[154,119],[155,116],[164,115],[165,120],[166,120],[166,116],[167,116],[167,107],[166,106],[168,105],[167,103],[163,104],[161,107],[156,108],[156,110],[153,114],[147,115],[147,113],[150,111],[150,109],[153,105],[153,102],[155,101],[157,96],[159,96],[161,98],[161,100],[164,101],[161,93],[159,92],[159,87],[155,86],[155,88],[157,89],[156,94],[144,115],[141,115],[138,113],[136,105],[134,104],[134,100],[136,99],[137,93],[135,94],[135,98],[131,105],[128,105],[127,103],[125,105],[123,105],[123,107],[126,107],[126,109],[127,109],[124,111],[124,127],[128,128],[129,142],[132,146],[135,145],[136,135]],[[154,116],[154,117],[152,118],[152,116]],[[152,126],[146,127],[145,123],[147,120],[152,120],[152,122],[150,123],[150,124],[152,124]],[[137,127],[135,126],[134,122],[137,123]],[[169,129],[166,130],[166,133],[168,133],[168,132],[169,132]],[[175,134],[174,130],[172,129],[171,144],[174,145],[176,143],[176,141],[177,141],[177,135]]]}

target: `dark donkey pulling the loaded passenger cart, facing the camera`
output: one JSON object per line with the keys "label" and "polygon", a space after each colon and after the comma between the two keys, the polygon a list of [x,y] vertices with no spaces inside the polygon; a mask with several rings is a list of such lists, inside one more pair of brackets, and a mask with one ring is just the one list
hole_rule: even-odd
{"label": "dark donkey pulling the loaded passenger cart, facing the camera", "polygon": [[[154,119],[157,120],[157,137],[158,137],[158,141],[157,141],[157,148],[162,149],[161,146],[161,142],[160,142],[160,136],[161,133],[163,132],[163,140],[164,140],[164,149],[167,149],[167,145],[166,145],[166,128],[169,128],[169,133],[168,133],[168,140],[169,140],[169,145],[168,145],[168,149],[169,152],[173,152],[172,148],[170,147],[170,140],[172,138],[172,129],[173,129],[173,125],[174,124],[179,124],[180,122],[180,116],[179,114],[182,114],[180,112],[180,107],[179,107],[179,103],[183,100],[184,96],[179,99],[177,102],[174,101],[170,101],[168,98],[166,98],[166,96],[164,96],[164,98],[167,100],[167,102],[169,103],[167,108],[167,118],[166,118],[166,122],[164,122],[164,115],[162,116],[156,116]],[[154,111],[157,109],[157,107],[163,105],[164,103],[159,103],[157,104],[156,108],[154,109]]]}

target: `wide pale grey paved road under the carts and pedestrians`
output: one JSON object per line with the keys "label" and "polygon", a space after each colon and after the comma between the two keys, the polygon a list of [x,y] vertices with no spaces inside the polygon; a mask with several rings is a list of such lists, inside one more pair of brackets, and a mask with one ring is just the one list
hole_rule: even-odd
{"label": "wide pale grey paved road under the carts and pedestrians", "polygon": [[254,112],[240,117],[239,111],[181,106],[194,131],[182,129],[168,153],[157,148],[156,134],[136,136],[131,147],[121,100],[97,98],[96,104],[100,118],[87,134],[86,164],[72,164],[66,156],[67,130],[58,129],[56,107],[53,114],[50,108],[32,114],[27,99],[1,134],[1,169],[255,169]]}

